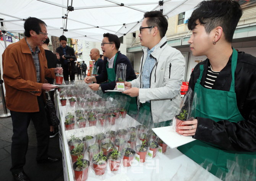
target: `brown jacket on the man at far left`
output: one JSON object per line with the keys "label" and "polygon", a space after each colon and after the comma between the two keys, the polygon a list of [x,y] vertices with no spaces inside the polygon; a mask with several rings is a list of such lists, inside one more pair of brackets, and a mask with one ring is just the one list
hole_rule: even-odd
{"label": "brown jacket on the man at far left", "polygon": [[40,83],[37,83],[36,66],[25,38],[9,45],[3,52],[6,107],[11,111],[39,112],[37,96],[42,94],[44,78],[55,78],[54,68],[47,68],[44,48],[39,46],[39,49]]}

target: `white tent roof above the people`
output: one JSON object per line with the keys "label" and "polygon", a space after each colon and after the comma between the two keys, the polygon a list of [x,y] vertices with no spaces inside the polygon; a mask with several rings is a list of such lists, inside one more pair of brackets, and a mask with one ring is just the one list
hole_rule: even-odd
{"label": "white tent roof above the people", "polygon": [[[0,0],[0,18],[5,19],[5,31],[24,32],[24,20],[31,16],[42,19],[51,36],[59,37],[67,29],[66,37],[101,41],[106,32],[120,37],[138,30],[146,11],[163,7],[170,18],[201,1],[164,0],[160,6],[157,0]],[[74,10],[68,11],[67,5]]]}

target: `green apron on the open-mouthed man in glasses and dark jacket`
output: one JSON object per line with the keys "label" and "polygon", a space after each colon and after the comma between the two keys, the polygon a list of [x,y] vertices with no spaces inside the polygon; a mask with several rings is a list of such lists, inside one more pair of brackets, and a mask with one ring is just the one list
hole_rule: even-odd
{"label": "green apron on the open-mouthed man in glasses and dark jacket", "polygon": [[[114,60],[114,64],[113,64],[113,68],[108,68],[109,66],[109,62],[107,62],[107,76],[108,76],[108,80],[109,82],[113,82],[115,81],[117,75],[115,74],[115,61],[117,60],[117,54],[115,54],[115,60]],[[128,82],[132,81],[132,80],[127,80]],[[122,96],[126,96],[126,97],[130,97],[130,95],[126,95],[126,94],[122,94],[122,92],[107,92],[105,94],[110,95],[111,97],[115,98],[115,95],[122,95]],[[135,97],[130,97],[131,101],[130,101],[130,105],[128,108],[128,112],[131,111],[137,111],[137,103],[136,103],[136,98]]]}

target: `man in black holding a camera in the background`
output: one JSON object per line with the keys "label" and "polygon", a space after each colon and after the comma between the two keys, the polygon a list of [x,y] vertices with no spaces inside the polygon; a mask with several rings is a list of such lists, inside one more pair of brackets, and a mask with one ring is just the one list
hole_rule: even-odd
{"label": "man in black holding a camera in the background", "polygon": [[64,80],[68,81],[70,77],[70,81],[74,81],[75,73],[77,73],[75,52],[72,47],[66,45],[66,42],[66,37],[60,36],[60,47],[56,48],[56,52],[60,54]]}

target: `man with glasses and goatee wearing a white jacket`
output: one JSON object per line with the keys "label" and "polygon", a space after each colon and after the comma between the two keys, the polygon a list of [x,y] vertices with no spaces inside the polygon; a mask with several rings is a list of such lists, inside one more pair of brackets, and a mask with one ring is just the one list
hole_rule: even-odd
{"label": "man with glasses and goatee wearing a white jacket", "polygon": [[[167,45],[168,21],[161,11],[149,11],[139,28],[143,48],[139,77],[125,82],[124,94],[138,96],[138,108],[152,115],[156,127],[169,126],[180,103],[185,59],[180,51]],[[159,124],[156,124],[159,122]]]}

